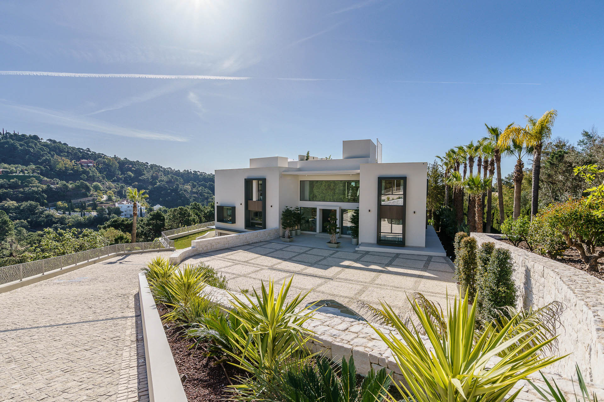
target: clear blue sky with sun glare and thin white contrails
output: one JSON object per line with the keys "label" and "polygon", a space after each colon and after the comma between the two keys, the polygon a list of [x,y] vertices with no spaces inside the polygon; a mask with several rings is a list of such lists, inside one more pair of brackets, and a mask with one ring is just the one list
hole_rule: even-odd
{"label": "clear blue sky with sun glare and thin white contrails", "polygon": [[2,127],[178,169],[341,157],[342,140],[376,137],[384,162],[431,162],[484,123],[551,108],[553,136],[604,129],[601,1],[3,1],[0,14]]}

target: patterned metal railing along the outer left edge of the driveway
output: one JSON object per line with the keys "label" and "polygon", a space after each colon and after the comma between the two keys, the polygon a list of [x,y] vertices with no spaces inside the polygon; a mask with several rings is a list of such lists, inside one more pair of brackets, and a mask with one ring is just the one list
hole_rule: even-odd
{"label": "patterned metal railing along the outer left edge of the driveway", "polygon": [[2,266],[0,267],[0,284],[23,280],[24,278],[32,277],[34,275],[43,275],[46,272],[63,269],[70,265],[97,259],[98,257],[110,256],[115,253],[140,250],[161,250],[163,248],[168,247],[165,247],[161,241],[114,244],[101,248],[93,248],[92,250],[80,251],[79,253],[65,254],[65,256]]}

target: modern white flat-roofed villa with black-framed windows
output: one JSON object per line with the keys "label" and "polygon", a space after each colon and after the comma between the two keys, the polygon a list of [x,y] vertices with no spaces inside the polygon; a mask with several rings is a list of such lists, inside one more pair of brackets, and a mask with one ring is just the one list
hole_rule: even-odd
{"label": "modern white flat-roofed villa with black-framed windows", "polygon": [[437,245],[435,255],[443,255],[426,225],[427,166],[381,163],[381,144],[372,140],[343,141],[342,159],[250,159],[249,168],[215,172],[216,236],[281,228],[281,211],[290,206],[301,208],[302,233],[321,236],[335,213],[339,236],[350,237],[359,208],[358,250],[432,254]]}

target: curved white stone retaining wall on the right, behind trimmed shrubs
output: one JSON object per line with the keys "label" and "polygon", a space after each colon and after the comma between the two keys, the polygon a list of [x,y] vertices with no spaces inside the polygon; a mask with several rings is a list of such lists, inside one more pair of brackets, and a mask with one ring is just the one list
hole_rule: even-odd
{"label": "curved white stone retaining wall on the right, behind trimmed shrubs", "polygon": [[580,269],[500,242],[499,236],[472,233],[472,237],[478,245],[494,242],[512,253],[518,307],[535,309],[555,300],[566,305],[558,330],[559,353],[572,354],[547,371],[571,377],[577,363],[586,380],[604,383],[604,282]]}

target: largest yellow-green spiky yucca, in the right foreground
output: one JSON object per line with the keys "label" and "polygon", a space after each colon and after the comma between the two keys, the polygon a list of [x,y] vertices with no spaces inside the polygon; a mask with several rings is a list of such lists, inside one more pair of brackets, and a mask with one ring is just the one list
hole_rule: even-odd
{"label": "largest yellow-green spiky yucca, in the right foreground", "polygon": [[[426,347],[416,326],[407,328],[388,304],[382,307],[399,336],[374,328],[392,350],[406,380],[407,385],[395,384],[405,401],[502,401],[518,380],[562,358],[539,357],[539,350],[554,338],[530,346],[537,337],[532,330],[506,340],[513,320],[500,331],[480,333],[475,325],[476,305],[468,309],[467,292],[463,300],[455,297],[449,304],[444,336],[420,304],[410,302],[434,350]],[[525,348],[524,353],[517,353],[521,348]],[[519,392],[508,400],[514,400]]]}

